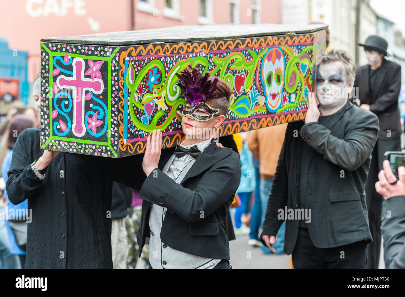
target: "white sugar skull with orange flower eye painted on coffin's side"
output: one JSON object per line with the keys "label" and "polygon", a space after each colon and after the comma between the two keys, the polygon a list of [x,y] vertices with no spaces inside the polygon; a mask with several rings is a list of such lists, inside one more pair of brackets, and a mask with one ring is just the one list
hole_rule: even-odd
{"label": "white sugar skull with orange flower eye painted on coffin's side", "polygon": [[281,105],[284,86],[284,55],[279,48],[271,48],[263,58],[262,84],[266,88],[267,109],[275,112]]}

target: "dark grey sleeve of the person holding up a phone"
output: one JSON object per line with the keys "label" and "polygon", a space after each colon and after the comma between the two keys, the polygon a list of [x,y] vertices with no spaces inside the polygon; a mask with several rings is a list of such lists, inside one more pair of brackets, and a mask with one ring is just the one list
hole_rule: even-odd
{"label": "dark grey sleeve of the person holding up a phone", "polygon": [[405,196],[382,202],[385,268],[405,269]]}

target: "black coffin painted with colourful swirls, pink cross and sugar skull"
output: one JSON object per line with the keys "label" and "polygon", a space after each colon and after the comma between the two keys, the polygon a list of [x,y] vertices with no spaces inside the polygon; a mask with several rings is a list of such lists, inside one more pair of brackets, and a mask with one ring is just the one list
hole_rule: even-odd
{"label": "black coffin painted with colourful swirls, pink cross and sugar skull", "polygon": [[220,136],[302,120],[325,26],[178,26],[41,40],[41,147],[124,157],[153,129],[181,143],[184,98],[175,73],[191,65],[232,86]]}

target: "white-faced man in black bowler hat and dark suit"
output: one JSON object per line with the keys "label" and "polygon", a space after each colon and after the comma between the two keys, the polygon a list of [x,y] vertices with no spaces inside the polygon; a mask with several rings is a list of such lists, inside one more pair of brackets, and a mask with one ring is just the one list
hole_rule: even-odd
{"label": "white-faced man in black bowler hat and dark suit", "polygon": [[[364,52],[369,63],[358,67],[354,90],[357,104],[378,116],[379,134],[372,152],[369,177],[365,187],[369,227],[373,242],[368,246],[368,263],[366,268],[378,268],[381,246],[381,206],[382,196],[375,191],[378,172],[386,151],[401,150],[401,124],[398,106],[401,89],[401,65],[386,60],[386,40],[379,36],[369,36],[364,44]],[[358,89],[357,89],[358,88]]]}

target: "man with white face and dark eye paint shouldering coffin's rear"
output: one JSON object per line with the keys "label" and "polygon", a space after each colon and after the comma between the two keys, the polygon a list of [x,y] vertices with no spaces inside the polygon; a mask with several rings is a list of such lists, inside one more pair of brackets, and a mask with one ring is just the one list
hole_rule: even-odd
{"label": "man with white face and dark eye paint shouldering coffin's rear", "polygon": [[318,62],[319,109],[310,93],[305,122],[287,126],[260,237],[273,249],[286,220],[284,252],[294,268],[365,268],[364,185],[378,119],[348,101],[356,65],[347,52],[331,50]]}

